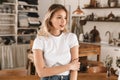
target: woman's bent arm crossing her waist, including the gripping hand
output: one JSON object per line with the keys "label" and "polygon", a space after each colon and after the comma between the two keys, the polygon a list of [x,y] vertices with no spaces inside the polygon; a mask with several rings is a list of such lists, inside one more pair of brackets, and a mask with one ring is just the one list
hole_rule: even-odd
{"label": "woman's bent arm crossing her waist, including the gripping hand", "polygon": [[79,68],[79,62],[77,61],[62,66],[46,67],[43,58],[43,52],[40,49],[34,49],[33,55],[34,64],[39,77],[57,75],[65,71],[77,70]]}

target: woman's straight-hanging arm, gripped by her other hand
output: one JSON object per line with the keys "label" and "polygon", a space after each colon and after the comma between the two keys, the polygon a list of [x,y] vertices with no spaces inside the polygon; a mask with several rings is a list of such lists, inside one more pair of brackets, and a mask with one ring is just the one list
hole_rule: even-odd
{"label": "woman's straight-hanging arm, gripped by her other hand", "polygon": [[[74,62],[76,60],[79,61],[78,49],[79,49],[79,46],[75,46],[70,49],[71,56],[72,56],[72,62]],[[80,64],[79,64],[79,66],[80,66]],[[70,80],[77,80],[77,77],[78,77],[77,70],[71,70]]]}

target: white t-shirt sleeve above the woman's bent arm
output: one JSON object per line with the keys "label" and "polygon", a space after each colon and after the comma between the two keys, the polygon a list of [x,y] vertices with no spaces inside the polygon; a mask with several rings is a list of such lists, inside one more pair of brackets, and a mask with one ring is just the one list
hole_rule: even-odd
{"label": "white t-shirt sleeve above the woman's bent arm", "polygon": [[44,45],[43,45],[43,38],[42,37],[36,37],[34,42],[33,42],[33,46],[32,46],[32,50],[33,49],[40,49],[43,50],[44,49]]}

